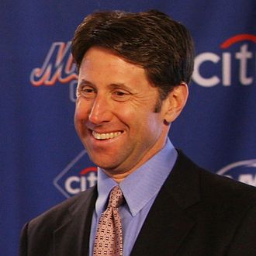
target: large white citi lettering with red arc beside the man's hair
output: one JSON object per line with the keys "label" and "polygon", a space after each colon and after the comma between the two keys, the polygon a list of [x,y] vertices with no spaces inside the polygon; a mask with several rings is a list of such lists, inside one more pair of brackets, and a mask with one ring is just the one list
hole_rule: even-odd
{"label": "large white citi lettering with red arc beside the man's hair", "polygon": [[[237,80],[240,85],[252,85],[255,80],[256,55],[255,51],[250,50],[250,46],[253,49],[254,43],[256,43],[256,36],[239,34],[220,44],[222,54],[204,52],[197,55],[192,75],[193,81],[203,87],[219,84],[230,86]],[[232,79],[232,74],[238,74],[238,76]]]}

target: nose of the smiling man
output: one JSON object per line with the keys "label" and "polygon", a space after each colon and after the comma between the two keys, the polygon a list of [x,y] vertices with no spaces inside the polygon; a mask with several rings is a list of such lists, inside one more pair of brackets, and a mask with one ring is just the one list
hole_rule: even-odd
{"label": "nose of the smiling man", "polygon": [[97,95],[92,102],[92,107],[89,110],[88,120],[99,125],[101,123],[109,122],[112,118],[111,106],[106,99],[106,95]]}

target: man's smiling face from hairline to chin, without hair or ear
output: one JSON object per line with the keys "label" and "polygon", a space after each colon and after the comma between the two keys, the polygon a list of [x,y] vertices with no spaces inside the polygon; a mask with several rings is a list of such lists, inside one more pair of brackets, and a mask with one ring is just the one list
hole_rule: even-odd
{"label": "man's smiling face from hairline to chin, without hair or ear", "polygon": [[164,109],[144,69],[92,47],[81,62],[74,123],[89,157],[111,174],[130,173],[164,146]]}

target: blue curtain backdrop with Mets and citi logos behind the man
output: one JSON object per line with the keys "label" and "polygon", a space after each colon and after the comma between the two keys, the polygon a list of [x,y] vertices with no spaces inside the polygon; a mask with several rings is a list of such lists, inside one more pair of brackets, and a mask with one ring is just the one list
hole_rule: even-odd
{"label": "blue curtain backdrop with Mets and citi logos behind the man", "polygon": [[74,29],[101,9],[159,9],[187,26],[196,58],[190,98],[171,126],[175,147],[220,175],[256,185],[254,0],[87,0],[0,3],[0,254],[22,225],[95,184],[73,124]]}

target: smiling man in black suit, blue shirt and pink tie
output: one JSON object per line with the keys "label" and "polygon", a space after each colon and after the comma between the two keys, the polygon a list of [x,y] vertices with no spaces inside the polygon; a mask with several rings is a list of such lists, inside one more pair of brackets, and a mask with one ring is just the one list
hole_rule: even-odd
{"label": "smiling man in black suit, blue shirt and pink tie", "polygon": [[[74,123],[98,184],[27,223],[20,255],[256,255],[255,189],[199,168],[168,139],[193,52],[162,12],[95,12],[78,26]],[[112,239],[101,234],[108,210]]]}

